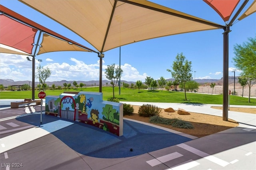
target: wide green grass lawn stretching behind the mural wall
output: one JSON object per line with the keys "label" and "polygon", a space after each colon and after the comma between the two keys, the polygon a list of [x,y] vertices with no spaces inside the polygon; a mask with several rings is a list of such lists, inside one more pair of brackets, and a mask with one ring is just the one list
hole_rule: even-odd
{"label": "wide green grass lawn stretching behind the mural wall", "polygon": [[[64,91],[70,92],[99,92],[98,87],[93,88],[77,88],[70,90],[46,90],[46,96],[59,96]],[[113,97],[112,87],[102,87],[103,100]],[[35,98],[38,98],[39,91],[35,92]],[[222,95],[209,95],[209,94],[197,94],[186,93],[188,101],[185,101],[185,95],[183,92],[168,92],[166,90],[132,90],[129,88],[121,88],[121,94],[119,95],[118,87],[115,87],[115,98],[120,101],[129,102],[166,102],[166,103],[194,103],[194,104],[222,104]],[[32,91],[3,91],[0,92],[0,99],[24,99],[32,98]],[[256,106],[256,99],[251,98],[251,102],[248,103],[248,98],[242,98],[240,96],[230,96],[231,105],[248,105]]]}

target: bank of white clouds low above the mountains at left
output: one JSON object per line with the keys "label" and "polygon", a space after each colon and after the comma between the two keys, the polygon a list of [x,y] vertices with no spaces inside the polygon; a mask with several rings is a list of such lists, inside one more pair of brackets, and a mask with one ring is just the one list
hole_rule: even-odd
{"label": "bank of white clouds low above the mountains at left", "polygon": [[[14,81],[32,80],[32,62],[26,59],[27,56],[0,54],[0,78],[12,79]],[[46,59],[46,61],[52,61]],[[52,74],[46,81],[60,80],[99,80],[100,60],[94,64],[86,64],[74,58],[70,58],[70,63],[47,63],[44,67],[48,67]],[[107,68],[102,60],[102,80],[106,80],[104,71]],[[36,60],[36,67],[39,66],[39,61]],[[121,65],[124,71],[121,79],[126,81],[145,80],[146,73],[140,74],[136,68],[130,64]],[[36,70],[37,71],[37,70]],[[37,73],[36,73],[37,74]],[[38,79],[36,78],[36,81]]]}

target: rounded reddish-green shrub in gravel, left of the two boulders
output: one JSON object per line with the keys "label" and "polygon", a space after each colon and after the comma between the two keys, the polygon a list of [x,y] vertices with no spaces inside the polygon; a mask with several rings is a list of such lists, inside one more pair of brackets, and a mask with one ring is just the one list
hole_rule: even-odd
{"label": "rounded reddish-green shrub in gravel, left of the two boulders", "polygon": [[150,105],[150,104],[143,104],[139,108],[139,115],[144,116],[144,117],[150,117],[150,116],[155,116],[159,115],[161,109],[157,106]]}

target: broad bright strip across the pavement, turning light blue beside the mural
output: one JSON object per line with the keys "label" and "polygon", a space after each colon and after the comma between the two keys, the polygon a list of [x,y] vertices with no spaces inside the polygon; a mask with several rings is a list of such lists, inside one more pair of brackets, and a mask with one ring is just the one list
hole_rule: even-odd
{"label": "broad bright strip across the pavement, turning light blue beside the mural", "polygon": [[[9,135],[7,137],[1,138],[1,148],[0,153],[6,152],[7,150],[16,148],[20,145],[24,145],[30,141],[48,135],[49,133],[58,131],[64,127],[68,127],[74,123],[57,120],[50,123],[42,124],[40,127],[34,127],[31,129],[26,129],[24,131]],[[6,144],[6,146],[4,145]]]}

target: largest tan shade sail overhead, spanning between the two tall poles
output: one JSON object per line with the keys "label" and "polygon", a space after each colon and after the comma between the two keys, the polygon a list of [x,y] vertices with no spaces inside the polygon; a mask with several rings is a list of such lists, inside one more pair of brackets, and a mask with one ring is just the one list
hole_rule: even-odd
{"label": "largest tan shade sail overhead, spanning between the two tall poles", "polygon": [[146,0],[20,0],[98,51],[167,35],[224,28]]}

